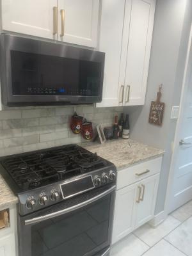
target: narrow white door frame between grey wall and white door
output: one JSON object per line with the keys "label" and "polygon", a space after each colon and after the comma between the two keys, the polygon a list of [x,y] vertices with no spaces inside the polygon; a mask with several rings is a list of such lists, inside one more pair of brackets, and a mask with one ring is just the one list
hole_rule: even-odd
{"label": "narrow white door frame between grey wall and white door", "polygon": [[184,77],[182,80],[182,92],[180,96],[180,108],[179,108],[179,118],[177,120],[177,125],[175,129],[175,138],[173,141],[172,147],[172,161],[170,164],[170,173],[168,176],[168,186],[166,190],[166,198],[164,202],[164,216],[166,217],[170,214],[170,202],[172,200],[172,188],[173,188],[173,177],[175,171],[175,163],[177,159],[177,154],[179,150],[179,141],[180,141],[180,131],[182,127],[182,120],[184,114],[184,102],[186,99],[186,92],[188,90],[189,79],[192,73],[192,24],[191,24],[191,31],[189,33],[189,40],[188,40],[188,51],[186,56],[186,63],[184,68]]}

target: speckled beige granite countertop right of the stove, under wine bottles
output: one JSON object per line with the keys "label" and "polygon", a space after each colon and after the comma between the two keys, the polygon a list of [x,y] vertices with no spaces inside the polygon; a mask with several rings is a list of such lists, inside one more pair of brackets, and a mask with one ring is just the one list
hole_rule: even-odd
{"label": "speckled beige granite countertop right of the stove, under wine bottles", "polygon": [[158,156],[163,156],[164,151],[142,144],[134,140],[113,140],[104,144],[81,143],[81,147],[97,153],[108,161],[115,164],[117,170],[129,167],[132,164],[140,163]]}

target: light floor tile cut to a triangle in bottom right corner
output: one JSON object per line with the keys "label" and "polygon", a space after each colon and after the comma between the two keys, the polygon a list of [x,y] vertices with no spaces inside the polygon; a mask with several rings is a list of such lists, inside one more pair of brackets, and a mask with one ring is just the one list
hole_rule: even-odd
{"label": "light floor tile cut to a triangle in bottom right corner", "polygon": [[182,225],[175,228],[173,232],[164,237],[166,241],[173,244],[186,255],[192,255],[192,217],[184,221]]}

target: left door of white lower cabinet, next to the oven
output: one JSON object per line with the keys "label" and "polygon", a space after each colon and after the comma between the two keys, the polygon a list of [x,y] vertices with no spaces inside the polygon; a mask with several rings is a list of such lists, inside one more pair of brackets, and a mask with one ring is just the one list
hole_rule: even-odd
{"label": "left door of white lower cabinet, next to the oven", "polygon": [[131,233],[134,228],[134,209],[137,184],[116,191],[112,243]]}

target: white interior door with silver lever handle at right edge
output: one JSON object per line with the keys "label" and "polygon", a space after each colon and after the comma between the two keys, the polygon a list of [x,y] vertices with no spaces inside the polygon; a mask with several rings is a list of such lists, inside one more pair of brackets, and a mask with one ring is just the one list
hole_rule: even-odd
{"label": "white interior door with silver lever handle at right edge", "polygon": [[[191,31],[192,32],[192,31]],[[192,35],[192,33],[191,33]],[[188,60],[186,61],[186,76],[182,92],[180,117],[175,136],[170,177],[170,199],[168,212],[192,199],[192,44],[189,40]]]}

